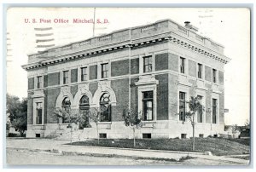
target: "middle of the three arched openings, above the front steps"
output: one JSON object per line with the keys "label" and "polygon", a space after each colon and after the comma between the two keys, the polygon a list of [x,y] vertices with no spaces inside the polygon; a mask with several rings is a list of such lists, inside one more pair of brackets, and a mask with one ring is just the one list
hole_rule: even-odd
{"label": "middle of the three arched openings, above the front steps", "polygon": [[83,114],[84,123],[79,123],[79,129],[90,128],[89,109],[89,97],[87,95],[83,95],[79,101],[79,112],[80,114]]}

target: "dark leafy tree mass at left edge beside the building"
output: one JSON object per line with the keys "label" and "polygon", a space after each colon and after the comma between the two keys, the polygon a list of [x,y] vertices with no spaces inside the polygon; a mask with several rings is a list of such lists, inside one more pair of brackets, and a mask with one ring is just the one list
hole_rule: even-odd
{"label": "dark leafy tree mass at left edge beside the building", "polygon": [[[7,113],[9,113],[9,123],[11,127],[18,129],[20,137],[26,131],[27,124],[27,98],[20,98],[15,95],[6,95]],[[9,125],[7,123],[7,125]]]}

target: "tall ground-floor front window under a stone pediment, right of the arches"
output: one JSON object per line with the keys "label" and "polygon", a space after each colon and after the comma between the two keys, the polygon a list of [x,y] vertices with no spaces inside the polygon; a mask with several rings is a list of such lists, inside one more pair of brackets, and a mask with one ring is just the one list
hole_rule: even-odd
{"label": "tall ground-floor front window under a stone pediment, right of the arches", "polygon": [[144,121],[153,120],[153,91],[143,92]]}

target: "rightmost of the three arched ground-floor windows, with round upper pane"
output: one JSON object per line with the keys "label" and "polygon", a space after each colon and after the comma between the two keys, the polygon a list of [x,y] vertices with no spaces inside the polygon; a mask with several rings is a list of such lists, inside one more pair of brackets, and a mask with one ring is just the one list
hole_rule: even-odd
{"label": "rightmost of the three arched ground-floor windows, with round upper pane", "polygon": [[101,122],[111,121],[111,106],[110,106],[110,95],[104,93],[100,99],[101,107]]}

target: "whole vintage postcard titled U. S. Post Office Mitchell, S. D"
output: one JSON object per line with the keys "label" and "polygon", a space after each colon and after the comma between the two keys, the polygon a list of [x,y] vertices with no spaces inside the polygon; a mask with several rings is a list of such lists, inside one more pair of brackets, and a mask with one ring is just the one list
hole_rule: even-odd
{"label": "whole vintage postcard titled U. S. Post Office Mitchell, S. D", "polygon": [[247,166],[250,13],[9,7],[6,163]]}

